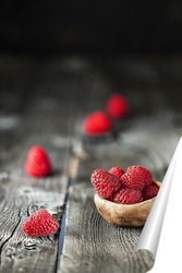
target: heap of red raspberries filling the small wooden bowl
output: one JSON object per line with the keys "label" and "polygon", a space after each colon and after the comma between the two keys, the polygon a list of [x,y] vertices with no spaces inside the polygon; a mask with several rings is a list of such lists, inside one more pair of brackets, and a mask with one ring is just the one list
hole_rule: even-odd
{"label": "heap of red raspberries filling the small wooden bowl", "polygon": [[135,204],[153,199],[159,190],[150,171],[137,165],[129,166],[125,171],[119,166],[108,171],[95,169],[90,181],[99,197],[121,204]]}

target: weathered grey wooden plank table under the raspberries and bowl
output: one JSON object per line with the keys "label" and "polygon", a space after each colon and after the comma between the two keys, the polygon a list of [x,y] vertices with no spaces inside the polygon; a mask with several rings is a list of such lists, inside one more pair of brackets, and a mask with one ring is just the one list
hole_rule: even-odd
{"label": "weathered grey wooden plank table under the raspberries and bowl", "polygon": [[[90,174],[136,164],[162,180],[181,135],[182,57],[0,56],[0,272],[142,273],[154,260],[134,251],[142,228],[98,214]],[[120,92],[130,116],[117,134],[85,139],[87,114]],[[49,153],[53,174],[27,177],[31,146]],[[60,219],[53,236],[32,238],[22,223],[40,207]]]}

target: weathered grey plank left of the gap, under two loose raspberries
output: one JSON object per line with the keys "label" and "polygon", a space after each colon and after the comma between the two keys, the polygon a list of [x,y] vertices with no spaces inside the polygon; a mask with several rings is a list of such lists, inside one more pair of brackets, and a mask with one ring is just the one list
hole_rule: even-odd
{"label": "weathered grey plank left of the gap, under two loose raspberries", "polygon": [[[57,218],[61,217],[69,182],[68,163],[77,75],[61,70],[58,64],[54,68],[49,61],[31,60],[28,67],[24,61],[16,63],[13,58],[10,60],[12,66],[7,64],[5,70],[1,68],[5,76],[3,85],[9,74],[15,72],[17,85],[14,90],[17,96],[9,105],[13,86],[7,85],[8,92],[1,97],[1,117],[11,117],[11,121],[17,117],[19,122],[9,128],[2,127],[0,134],[1,174],[4,174],[0,181],[0,271],[52,273],[57,266],[59,233],[31,238],[23,234],[21,225],[40,207],[46,207]],[[27,76],[22,83],[24,68]],[[35,144],[48,151],[53,165],[52,176],[33,179],[24,173],[25,155]]]}

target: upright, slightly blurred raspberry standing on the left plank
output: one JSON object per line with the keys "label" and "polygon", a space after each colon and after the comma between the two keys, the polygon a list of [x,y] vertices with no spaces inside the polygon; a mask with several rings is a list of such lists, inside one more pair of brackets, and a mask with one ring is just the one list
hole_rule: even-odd
{"label": "upright, slightly blurred raspberry standing on the left plank", "polygon": [[41,146],[33,146],[26,156],[24,169],[32,177],[45,177],[52,170],[47,152]]}

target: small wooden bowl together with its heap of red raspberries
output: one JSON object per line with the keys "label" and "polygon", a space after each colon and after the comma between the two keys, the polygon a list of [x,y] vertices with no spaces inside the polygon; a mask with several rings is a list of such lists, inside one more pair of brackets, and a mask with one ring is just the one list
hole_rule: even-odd
{"label": "small wooden bowl together with its heap of red raspberries", "polygon": [[139,165],[129,166],[125,171],[119,166],[95,169],[90,182],[99,214],[110,224],[130,227],[145,224],[161,186]]}

